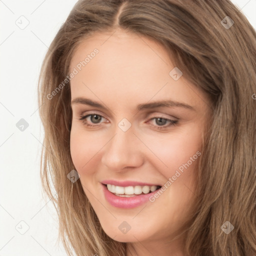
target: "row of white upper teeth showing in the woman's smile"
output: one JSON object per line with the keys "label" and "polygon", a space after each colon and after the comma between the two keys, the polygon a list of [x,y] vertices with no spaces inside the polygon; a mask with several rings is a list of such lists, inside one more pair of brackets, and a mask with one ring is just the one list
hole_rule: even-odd
{"label": "row of white upper teeth showing in the woman's smile", "polygon": [[126,195],[132,195],[132,194],[141,194],[142,192],[144,194],[149,193],[150,191],[153,192],[156,190],[157,186],[156,185],[152,185],[152,186],[115,186],[115,185],[110,185],[110,184],[106,184],[107,189],[114,193],[114,194],[118,194],[118,195],[123,195],[124,197],[129,197]]}

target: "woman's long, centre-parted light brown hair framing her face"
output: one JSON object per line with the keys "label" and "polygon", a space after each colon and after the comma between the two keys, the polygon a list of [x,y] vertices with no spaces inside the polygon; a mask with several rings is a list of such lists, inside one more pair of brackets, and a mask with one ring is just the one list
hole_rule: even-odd
{"label": "woman's long, centre-parted light brown hair framing her face", "polygon": [[[77,45],[93,32],[117,27],[164,45],[183,76],[205,91],[213,105],[198,166],[196,210],[185,240],[187,254],[256,253],[253,27],[229,0],[79,0],[46,53],[38,84],[44,127],[41,180],[57,210],[59,238],[68,255],[126,255],[126,243],[102,230],[79,179],[72,183],[67,178],[74,169],[72,112],[70,83],[63,83]],[[233,226],[228,234],[221,229],[226,221]]]}

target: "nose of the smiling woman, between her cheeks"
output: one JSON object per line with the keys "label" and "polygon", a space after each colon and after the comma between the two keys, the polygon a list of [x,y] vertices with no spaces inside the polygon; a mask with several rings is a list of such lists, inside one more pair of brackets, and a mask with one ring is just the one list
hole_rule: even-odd
{"label": "nose of the smiling woman, between her cheeks", "polygon": [[117,130],[103,149],[101,162],[110,170],[122,171],[125,167],[139,167],[143,164],[141,142],[132,129],[125,132]]}

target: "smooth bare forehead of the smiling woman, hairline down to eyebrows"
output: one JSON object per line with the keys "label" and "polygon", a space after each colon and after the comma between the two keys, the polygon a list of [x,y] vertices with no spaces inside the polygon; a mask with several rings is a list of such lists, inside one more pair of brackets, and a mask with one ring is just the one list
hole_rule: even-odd
{"label": "smooth bare forehead of the smiling woman, hairline down to eyebrows", "polygon": [[70,81],[72,98],[90,96],[98,101],[112,97],[122,105],[152,98],[200,103],[191,97],[196,88],[182,76],[178,80],[170,76],[174,65],[167,50],[141,35],[118,30],[95,33],[76,48],[70,71],[73,68],[77,74]]}

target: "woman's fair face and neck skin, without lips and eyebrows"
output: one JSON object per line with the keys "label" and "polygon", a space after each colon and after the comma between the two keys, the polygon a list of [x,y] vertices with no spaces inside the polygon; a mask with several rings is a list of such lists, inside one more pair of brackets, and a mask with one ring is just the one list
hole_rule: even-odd
{"label": "woman's fair face and neck skin, without lips and eyebrows", "polygon": [[[185,255],[183,237],[173,238],[183,231],[196,200],[193,191],[199,157],[154,202],[130,209],[110,205],[99,181],[166,183],[179,166],[200,151],[202,130],[211,115],[209,99],[183,76],[175,81],[169,75],[175,65],[163,46],[119,29],[84,40],[72,56],[70,70],[94,48],[99,52],[70,81],[71,100],[86,97],[107,106],[105,110],[71,105],[70,152],[84,193],[105,233],[127,242],[127,255]],[[189,104],[195,110],[136,110],[138,104],[166,99]],[[98,121],[93,116],[86,118],[94,127],[79,120],[90,113],[102,116],[96,116]],[[160,130],[154,117],[178,119],[178,123],[169,125],[163,120],[165,128]],[[123,118],[131,123],[125,132],[118,127]],[[131,226],[125,234],[118,228],[122,221]]]}

